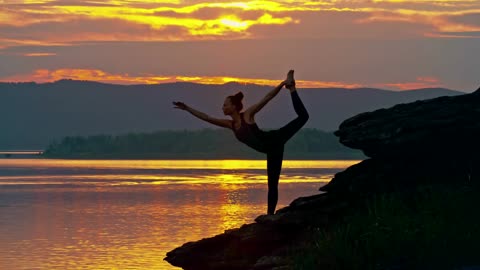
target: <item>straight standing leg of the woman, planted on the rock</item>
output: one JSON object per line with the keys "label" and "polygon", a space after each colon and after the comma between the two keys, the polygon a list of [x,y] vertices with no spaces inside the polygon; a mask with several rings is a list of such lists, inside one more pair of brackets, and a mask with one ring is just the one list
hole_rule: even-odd
{"label": "straight standing leg of the woman, planted on the rock", "polygon": [[278,202],[278,182],[282,170],[283,145],[267,153],[268,214],[275,214]]}

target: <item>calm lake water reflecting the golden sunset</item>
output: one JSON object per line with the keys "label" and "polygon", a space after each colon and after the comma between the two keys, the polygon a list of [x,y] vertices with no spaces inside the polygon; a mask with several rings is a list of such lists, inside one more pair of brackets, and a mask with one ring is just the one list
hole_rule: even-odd
{"label": "calm lake water reflecting the golden sunset", "polygon": [[[279,208],[357,161],[284,161]],[[266,212],[266,162],[0,159],[0,269],[179,269]],[[278,208],[277,208],[278,209]]]}

